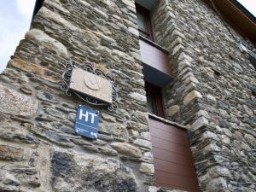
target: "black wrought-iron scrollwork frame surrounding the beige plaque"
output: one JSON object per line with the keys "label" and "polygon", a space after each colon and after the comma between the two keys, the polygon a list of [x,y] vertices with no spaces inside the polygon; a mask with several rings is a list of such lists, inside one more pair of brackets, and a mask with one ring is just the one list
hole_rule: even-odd
{"label": "black wrought-iron scrollwork frame surrounding the beige plaque", "polygon": [[[78,63],[74,61],[70,61],[67,63],[67,65],[64,66],[66,70],[62,74],[62,86],[61,90],[63,90],[67,96],[78,96],[81,100],[84,102],[89,103],[93,106],[105,106],[108,107],[108,111],[113,111],[118,108],[117,100],[118,100],[118,86],[115,83],[114,79],[111,78],[109,75],[105,74],[97,68],[95,65],[92,64],[83,64],[79,65]],[[93,73],[96,76],[99,76],[103,79],[107,79],[112,84],[112,103],[102,102],[101,100],[98,100],[91,96],[85,96],[84,94],[79,93],[78,91],[71,90],[70,89],[70,83],[72,78],[72,72],[74,68],[80,68],[88,73]]]}

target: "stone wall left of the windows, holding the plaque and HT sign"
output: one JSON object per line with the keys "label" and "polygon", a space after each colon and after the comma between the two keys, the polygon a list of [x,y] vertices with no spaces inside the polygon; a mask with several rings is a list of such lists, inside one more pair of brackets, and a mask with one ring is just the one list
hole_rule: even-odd
{"label": "stone wall left of the windows, holding the plaque and HT sign", "polygon": [[[0,76],[0,191],[144,192],[153,185],[136,20],[133,1],[44,1]],[[96,108],[96,141],[74,132],[79,104],[95,107],[61,90],[68,61],[95,64],[119,85],[118,110]]]}

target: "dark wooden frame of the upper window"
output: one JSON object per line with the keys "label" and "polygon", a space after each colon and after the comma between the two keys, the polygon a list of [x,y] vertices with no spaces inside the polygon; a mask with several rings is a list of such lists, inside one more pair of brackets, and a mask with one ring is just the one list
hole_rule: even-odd
{"label": "dark wooden frame of the upper window", "polygon": [[138,26],[139,32],[143,32],[149,37],[149,40],[154,41],[150,12],[148,11],[148,9],[143,8],[141,5],[137,3],[135,3],[135,5],[137,13],[143,15],[143,18],[145,19],[146,22],[146,30]]}

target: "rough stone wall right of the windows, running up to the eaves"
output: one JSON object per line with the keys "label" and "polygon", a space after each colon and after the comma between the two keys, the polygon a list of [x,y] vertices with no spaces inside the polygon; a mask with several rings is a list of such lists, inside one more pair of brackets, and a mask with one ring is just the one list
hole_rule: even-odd
{"label": "rough stone wall right of the windows, running up to the eaves", "polygon": [[174,72],[163,90],[167,119],[191,126],[201,190],[255,191],[253,65],[203,1],[160,0],[151,14],[154,39],[170,51]]}

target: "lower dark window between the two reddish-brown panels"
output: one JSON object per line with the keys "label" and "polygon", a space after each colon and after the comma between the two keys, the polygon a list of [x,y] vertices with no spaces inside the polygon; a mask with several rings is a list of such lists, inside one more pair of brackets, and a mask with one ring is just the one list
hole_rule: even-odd
{"label": "lower dark window between the two reddish-brown panels", "polygon": [[160,87],[146,82],[146,92],[148,113],[153,113],[159,117],[165,117]]}

